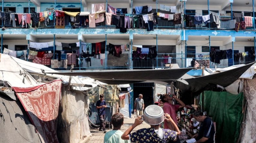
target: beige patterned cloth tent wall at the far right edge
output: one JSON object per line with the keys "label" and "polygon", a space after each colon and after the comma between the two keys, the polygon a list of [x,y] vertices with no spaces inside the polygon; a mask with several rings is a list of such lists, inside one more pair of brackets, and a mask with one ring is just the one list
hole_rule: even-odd
{"label": "beige patterned cloth tent wall at the far right edge", "polygon": [[256,78],[244,79],[243,90],[247,101],[245,120],[243,121],[241,142],[256,142]]}

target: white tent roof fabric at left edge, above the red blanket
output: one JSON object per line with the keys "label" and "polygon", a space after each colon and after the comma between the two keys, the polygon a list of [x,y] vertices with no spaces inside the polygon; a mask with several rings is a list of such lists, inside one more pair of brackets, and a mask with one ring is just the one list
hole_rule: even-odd
{"label": "white tent roof fabric at left edge, above the red blanket", "polygon": [[0,80],[8,81],[13,87],[23,88],[34,87],[43,84],[37,82],[13,59],[14,57],[9,55],[0,54]]}

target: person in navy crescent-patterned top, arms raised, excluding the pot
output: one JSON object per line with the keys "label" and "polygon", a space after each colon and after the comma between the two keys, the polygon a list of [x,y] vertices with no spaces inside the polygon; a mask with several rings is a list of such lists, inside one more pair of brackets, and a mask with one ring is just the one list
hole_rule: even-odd
{"label": "person in navy crescent-patterned top, arms raised, excluding the pot", "polygon": [[143,122],[141,120],[142,117],[138,116],[133,125],[123,133],[121,139],[129,139],[132,143],[167,143],[169,140],[176,140],[180,130],[169,114],[164,114],[164,116],[165,120],[174,127],[175,131],[160,128],[161,123],[159,123],[158,125],[150,125],[150,128],[143,128],[131,133],[136,126]]}

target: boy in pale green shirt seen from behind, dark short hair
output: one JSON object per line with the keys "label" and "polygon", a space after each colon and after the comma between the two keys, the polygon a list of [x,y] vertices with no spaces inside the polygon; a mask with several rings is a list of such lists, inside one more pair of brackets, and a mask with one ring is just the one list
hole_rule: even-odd
{"label": "boy in pale green shirt seen from behind, dark short hair", "polygon": [[124,124],[124,115],[122,113],[115,113],[111,117],[111,123],[114,128],[105,134],[104,143],[128,143],[129,140],[121,139],[123,132],[120,131],[120,128]]}

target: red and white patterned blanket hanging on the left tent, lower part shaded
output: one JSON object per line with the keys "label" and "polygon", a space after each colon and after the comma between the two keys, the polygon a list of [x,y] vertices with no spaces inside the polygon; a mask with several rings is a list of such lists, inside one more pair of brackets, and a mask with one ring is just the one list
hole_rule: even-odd
{"label": "red and white patterned blanket hanging on the left tent, lower part shaded", "polygon": [[13,87],[43,143],[58,143],[56,118],[61,95],[61,80],[30,87]]}

